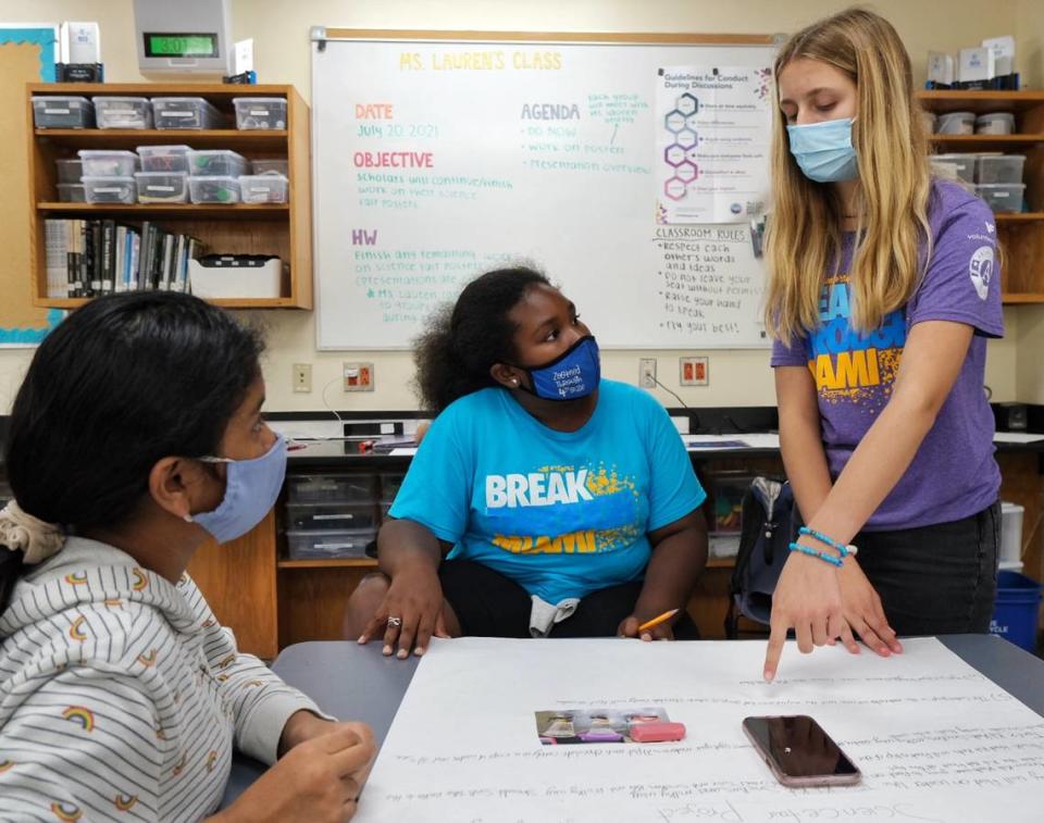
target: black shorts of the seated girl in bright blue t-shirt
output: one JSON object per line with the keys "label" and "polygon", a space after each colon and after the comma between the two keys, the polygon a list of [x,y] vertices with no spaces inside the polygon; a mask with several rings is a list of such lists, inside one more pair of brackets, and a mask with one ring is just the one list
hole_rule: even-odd
{"label": "black shorts of the seated girl in bright blue t-shirt", "polygon": [[[472,560],[446,560],[438,568],[443,597],[471,637],[530,637],[533,600],[518,583]],[[642,581],[592,591],[569,618],[551,627],[550,637],[616,637],[624,618],[634,611]],[[696,640],[699,632],[688,613],[675,621],[674,636]]]}

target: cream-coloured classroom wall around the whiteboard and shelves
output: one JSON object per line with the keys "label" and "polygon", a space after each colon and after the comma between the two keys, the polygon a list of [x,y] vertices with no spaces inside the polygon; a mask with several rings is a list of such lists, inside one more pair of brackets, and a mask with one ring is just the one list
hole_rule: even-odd
{"label": "cream-coloured classroom wall around the whiteboard and shelves", "polygon": [[[176,0],[172,0],[176,2]],[[847,2],[831,0],[233,0],[235,39],[252,37],[259,77],[264,83],[291,83],[306,99],[310,97],[310,46],[312,25],[355,28],[483,29],[483,30],[588,30],[588,32],[698,32],[771,34],[793,32],[812,20],[846,8]],[[915,64],[915,74],[924,76],[929,49],[956,51],[983,37],[1017,33],[1023,54],[1039,63],[1041,22],[1044,3],[1040,0],[881,0],[872,8],[887,16],[899,30]],[[111,82],[133,83],[142,78],[137,71],[134,49],[134,17],[130,0],[0,0],[0,21],[40,22],[96,20],[101,25],[105,77]],[[1036,63],[1027,75],[1040,82]],[[8,199],[0,208],[24,208],[20,197]],[[550,273],[552,276],[555,272]],[[28,277],[25,272],[0,272],[3,277]],[[564,284],[568,289],[569,284]],[[1027,376],[1040,371],[1044,351],[1044,322],[1035,322],[1022,334],[1023,312],[1006,310],[1008,337],[990,346],[986,383],[995,400],[1044,402],[1044,379]],[[270,354],[265,367],[268,408],[271,410],[322,409],[323,386],[330,404],[337,409],[409,409],[415,399],[408,388],[412,362],[406,352],[316,352],[315,327],[310,312],[253,312],[251,319],[269,329]],[[1040,315],[1027,315],[1037,321]],[[597,333],[597,329],[595,329]],[[1017,356],[1023,347],[1037,354]],[[1035,345],[1035,348],[1033,346]],[[772,404],[772,375],[765,351],[695,351],[710,357],[710,386],[681,388],[678,385],[679,351],[642,352],[657,357],[659,379],[675,389],[692,406]],[[611,351],[604,357],[609,377],[635,382],[637,352]],[[0,351],[0,413],[5,413],[17,388],[29,354]],[[338,382],[345,360],[371,360],[375,363],[376,390],[373,394],[345,395]],[[1031,362],[1033,369],[1031,369]],[[313,391],[290,391],[293,363],[313,364]],[[1023,389],[1023,386],[1026,387]],[[658,390],[667,406],[676,401]]]}

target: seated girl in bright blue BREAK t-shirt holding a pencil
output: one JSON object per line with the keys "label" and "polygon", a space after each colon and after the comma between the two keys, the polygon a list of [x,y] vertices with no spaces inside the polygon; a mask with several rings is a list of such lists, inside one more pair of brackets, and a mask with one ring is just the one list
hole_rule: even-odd
{"label": "seated girl in bright blue BREAK t-shirt holding a pencil", "polygon": [[530,269],[489,272],[417,352],[437,413],[377,538],[346,636],[694,637],[706,497],[663,408],[600,378],[576,308]]}

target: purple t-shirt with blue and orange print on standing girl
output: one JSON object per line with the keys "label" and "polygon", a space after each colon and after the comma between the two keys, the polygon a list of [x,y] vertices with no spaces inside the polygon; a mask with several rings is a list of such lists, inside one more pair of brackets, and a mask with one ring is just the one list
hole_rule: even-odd
{"label": "purple t-shirt with blue and orange print on standing girl", "polygon": [[855,235],[844,236],[842,265],[828,276],[822,324],[793,347],[776,341],[772,365],[806,365],[816,381],[823,446],[834,479],[888,402],[910,328],[922,321],[966,323],[968,356],[906,473],[867,521],[868,531],[912,528],[970,516],[997,499],[993,413],[983,391],[986,337],[1004,335],[996,225],[990,208],[956,183],[935,180],[929,202],[933,249],[910,301],[881,327],[849,326],[848,270]]}

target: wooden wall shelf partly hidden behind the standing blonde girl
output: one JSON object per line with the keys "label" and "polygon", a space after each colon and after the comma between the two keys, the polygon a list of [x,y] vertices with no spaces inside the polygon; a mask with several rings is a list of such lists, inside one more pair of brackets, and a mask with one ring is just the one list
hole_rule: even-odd
{"label": "wooden wall shelf partly hidden behind the standing blonde girl", "polygon": [[939,153],[1026,154],[1023,183],[1031,211],[997,214],[1003,249],[1002,300],[1010,305],[1044,303],[1044,91],[921,91],[921,105],[935,114],[1010,112],[1011,135],[932,135]]}

